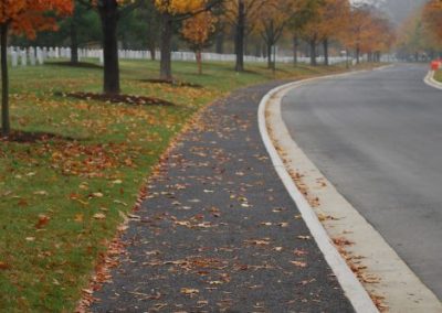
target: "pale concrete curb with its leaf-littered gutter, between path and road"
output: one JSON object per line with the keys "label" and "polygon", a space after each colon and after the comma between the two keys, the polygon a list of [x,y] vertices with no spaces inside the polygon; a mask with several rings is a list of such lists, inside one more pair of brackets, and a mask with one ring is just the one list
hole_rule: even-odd
{"label": "pale concrete curb with its leaf-littered gutter, between path and road", "polygon": [[[391,305],[390,312],[442,312],[442,304],[434,293],[420,281],[380,234],[336,191],[333,184],[309,161],[288,133],[282,119],[281,101],[291,89],[305,83],[351,74],[355,73],[307,79],[272,90],[260,106],[260,130],[264,143],[272,156],[276,171],[303,213],[307,226],[311,228],[320,250],[357,312],[375,312],[367,311],[372,310],[373,304],[366,306],[367,304],[364,301],[367,301],[367,299],[364,293],[367,294],[367,291],[362,284],[351,271],[348,272],[343,269],[343,267],[348,268],[344,260],[341,260],[343,265],[341,261],[334,259],[337,251],[330,244],[329,236],[338,237],[347,234],[345,237],[356,242],[349,248],[349,252],[354,256],[362,256],[362,265],[367,266],[369,274],[381,278],[379,283],[366,283],[365,288],[376,295],[386,296],[387,304]],[[273,142],[277,144],[277,151]],[[284,161],[281,159],[280,153],[284,155]],[[318,196],[320,204],[315,211],[325,216],[338,217],[337,220],[320,223],[316,212],[313,211],[304,195],[297,190],[287,171],[299,173],[303,176],[302,183],[308,188],[312,187],[313,196]],[[324,182],[325,187],[318,188],[318,181]],[[323,230],[317,230],[319,227]],[[332,251],[332,248],[325,241],[328,241],[335,251]],[[339,258],[341,259],[340,255]],[[357,282],[351,281],[348,276],[352,276],[352,279],[357,280]]]}

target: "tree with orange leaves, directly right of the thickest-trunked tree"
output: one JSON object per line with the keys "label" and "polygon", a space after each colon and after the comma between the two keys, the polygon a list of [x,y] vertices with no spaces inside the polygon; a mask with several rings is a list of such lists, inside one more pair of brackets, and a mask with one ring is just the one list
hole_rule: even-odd
{"label": "tree with orange leaves, directly right of the thickest-trunked tree", "polygon": [[160,12],[161,43],[160,43],[160,79],[172,80],[171,41],[173,24],[182,22],[204,11],[211,11],[222,0],[155,0]]}

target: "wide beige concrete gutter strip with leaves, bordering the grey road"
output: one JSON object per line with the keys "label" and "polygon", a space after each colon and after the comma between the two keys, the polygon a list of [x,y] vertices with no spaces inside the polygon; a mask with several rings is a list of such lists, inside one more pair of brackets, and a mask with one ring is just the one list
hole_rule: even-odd
{"label": "wide beige concrete gutter strip with leaves, bordering the grey road", "polygon": [[305,199],[298,199],[298,206],[306,202],[316,213],[328,236],[380,309],[388,305],[391,312],[442,312],[435,295],[336,191],[290,136],[281,117],[281,100],[297,85],[271,93],[261,117],[265,115],[273,145],[280,154],[272,155],[280,159],[274,160],[275,166],[284,166],[286,175],[292,176],[292,183],[305,195]]}

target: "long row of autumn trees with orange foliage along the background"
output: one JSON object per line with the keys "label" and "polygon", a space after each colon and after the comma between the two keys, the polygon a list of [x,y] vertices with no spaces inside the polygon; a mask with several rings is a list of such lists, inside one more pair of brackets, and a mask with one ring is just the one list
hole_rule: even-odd
{"label": "long row of autumn trees with orange foliage along the background", "polygon": [[[101,32],[93,31],[99,26]],[[260,37],[269,67],[274,68],[273,48],[282,37],[293,42],[294,62],[299,42],[309,46],[312,65],[317,64],[320,45],[328,64],[329,46],[352,52],[359,62],[368,54],[377,60],[389,50],[392,28],[375,7],[354,6],[349,0],[2,0],[0,2],[2,57],[2,131],[9,132],[7,45],[10,34],[35,39],[38,31],[55,30],[69,37],[72,62],[85,33],[101,41],[104,50],[105,94],[118,94],[118,44],[130,36],[146,39],[151,51],[159,47],[160,78],[172,79],[172,39],[179,34],[201,61],[201,51],[217,42],[222,51],[227,35],[232,35],[236,55],[235,71],[244,71],[246,39]],[[51,40],[51,35],[46,39]],[[201,68],[201,66],[199,66]]]}

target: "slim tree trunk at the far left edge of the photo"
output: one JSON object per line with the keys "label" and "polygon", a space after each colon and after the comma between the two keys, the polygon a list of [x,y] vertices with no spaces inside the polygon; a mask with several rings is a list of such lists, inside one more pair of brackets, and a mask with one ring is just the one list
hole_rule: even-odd
{"label": "slim tree trunk at the far left edge of the photo", "polygon": [[8,25],[0,26],[1,44],[1,133],[9,136],[11,126],[9,122],[9,76],[8,76]]}

